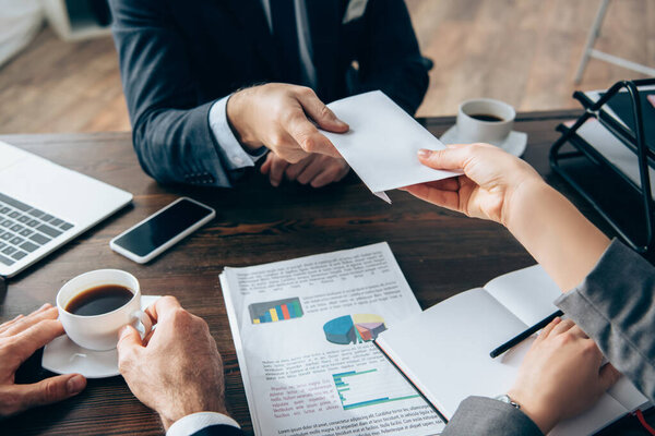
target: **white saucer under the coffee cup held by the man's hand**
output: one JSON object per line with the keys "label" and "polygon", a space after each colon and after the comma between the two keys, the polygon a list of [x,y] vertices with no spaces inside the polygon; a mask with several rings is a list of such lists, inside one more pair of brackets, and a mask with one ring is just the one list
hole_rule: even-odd
{"label": "white saucer under the coffee cup held by the man's hand", "polygon": [[[150,306],[159,295],[142,295],[141,308]],[[93,351],[78,346],[63,335],[46,346],[41,366],[57,374],[82,374],[86,378],[105,378],[119,375],[118,352]]]}

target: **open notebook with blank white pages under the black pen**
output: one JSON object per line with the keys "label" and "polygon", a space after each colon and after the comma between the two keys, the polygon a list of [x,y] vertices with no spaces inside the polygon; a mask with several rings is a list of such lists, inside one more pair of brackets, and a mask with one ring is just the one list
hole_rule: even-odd
{"label": "open notebook with blank white pages under the black pen", "polygon": [[[497,359],[489,352],[557,311],[552,301],[560,294],[536,265],[454,295],[396,324],[376,343],[426,399],[451,419],[466,397],[496,397],[511,388],[534,338]],[[646,397],[621,377],[592,410],[560,423],[550,434],[592,434],[647,403]]]}

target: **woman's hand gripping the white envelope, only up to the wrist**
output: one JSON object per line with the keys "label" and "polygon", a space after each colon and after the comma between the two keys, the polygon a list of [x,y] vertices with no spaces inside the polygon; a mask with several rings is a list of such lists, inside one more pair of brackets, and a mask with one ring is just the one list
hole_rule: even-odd
{"label": "woman's hand gripping the white envelope, only up to the wrist", "polygon": [[507,225],[512,197],[520,190],[545,184],[523,160],[488,144],[449,145],[418,153],[420,162],[438,170],[463,170],[464,175],[407,186],[426,202],[469,217]]}

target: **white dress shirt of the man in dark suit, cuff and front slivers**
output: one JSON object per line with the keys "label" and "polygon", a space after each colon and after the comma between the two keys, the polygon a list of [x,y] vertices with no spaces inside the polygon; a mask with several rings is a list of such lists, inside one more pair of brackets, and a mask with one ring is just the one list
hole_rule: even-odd
{"label": "white dress shirt of the man in dark suit, cuff and front slivers", "polygon": [[[271,0],[261,0],[269,29],[274,32],[271,21]],[[317,83],[317,72],[313,64],[311,52],[311,39],[309,35],[309,22],[307,19],[307,9],[305,0],[295,0],[296,27],[298,28],[298,49],[300,52],[300,69],[302,84],[313,86]],[[231,95],[230,95],[231,96]],[[265,155],[266,149],[249,153],[239,143],[227,121],[227,100],[230,96],[217,100],[210,109],[210,126],[214,133],[216,142],[225,150],[227,161],[224,162],[228,170],[239,170],[247,167],[253,167],[254,164]]]}

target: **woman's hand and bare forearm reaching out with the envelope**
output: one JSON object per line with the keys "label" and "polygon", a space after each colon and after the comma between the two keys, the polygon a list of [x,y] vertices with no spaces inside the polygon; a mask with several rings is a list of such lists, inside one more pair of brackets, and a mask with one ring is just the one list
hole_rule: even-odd
{"label": "woman's hand and bare forearm reaching out with the envelope", "polygon": [[487,144],[420,150],[422,165],[464,175],[404,190],[469,217],[502,223],[562,291],[577,286],[609,240],[526,162]]}

